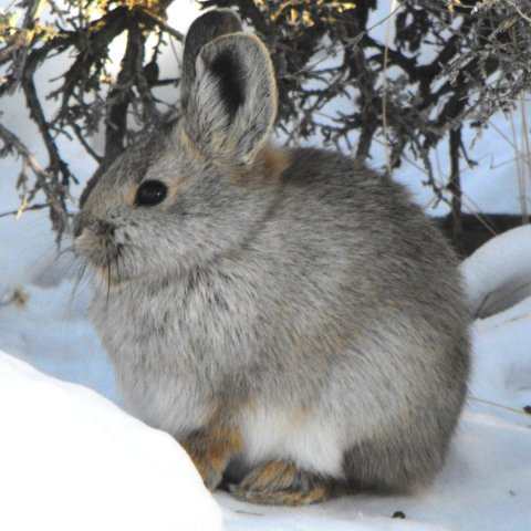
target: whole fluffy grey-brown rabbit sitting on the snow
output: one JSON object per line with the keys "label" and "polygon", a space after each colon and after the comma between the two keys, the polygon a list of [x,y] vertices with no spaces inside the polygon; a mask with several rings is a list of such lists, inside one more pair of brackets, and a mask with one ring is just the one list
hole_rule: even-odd
{"label": "whole fluffy grey-brown rabbit sitting on the snow", "polygon": [[428,486],[470,365],[449,244],[391,178],[273,146],[272,62],[230,10],[192,23],[181,105],[75,219],[126,408],[248,502]]}

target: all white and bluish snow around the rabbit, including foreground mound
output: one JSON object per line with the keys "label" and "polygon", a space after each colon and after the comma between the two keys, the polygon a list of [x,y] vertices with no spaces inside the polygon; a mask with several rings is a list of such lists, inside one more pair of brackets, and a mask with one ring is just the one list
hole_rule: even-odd
{"label": "all white and bluish snow around the rabbit, including foreground mound", "polygon": [[[191,20],[189,11],[171,17],[181,30]],[[43,159],[20,94],[0,104],[2,119]],[[502,115],[493,123],[473,152],[479,167],[465,173],[466,205],[519,212],[514,154],[503,139],[511,125]],[[85,179],[93,166],[75,144],[64,147]],[[444,154],[440,166],[447,167]],[[17,162],[0,159],[0,212],[18,207],[17,174]],[[431,201],[414,166],[405,163],[397,178],[420,204]],[[360,494],[302,509],[208,494],[173,438],[119,408],[112,366],[86,319],[90,288],[79,287],[73,296],[72,272],[67,254],[55,259],[44,212],[0,218],[1,530],[531,529],[531,416],[523,413],[531,405],[529,226],[491,240],[462,263],[478,315],[473,371],[447,466],[434,486],[409,497]],[[406,519],[391,518],[396,511]]]}

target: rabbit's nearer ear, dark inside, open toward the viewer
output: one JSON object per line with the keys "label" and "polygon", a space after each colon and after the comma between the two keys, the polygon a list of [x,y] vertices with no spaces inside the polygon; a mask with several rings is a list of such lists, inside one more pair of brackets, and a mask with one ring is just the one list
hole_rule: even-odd
{"label": "rabbit's nearer ear, dark inside, open toward the viewer", "polygon": [[269,52],[252,35],[233,33],[206,44],[185,112],[185,131],[218,162],[250,164],[267,140],[278,107]]}

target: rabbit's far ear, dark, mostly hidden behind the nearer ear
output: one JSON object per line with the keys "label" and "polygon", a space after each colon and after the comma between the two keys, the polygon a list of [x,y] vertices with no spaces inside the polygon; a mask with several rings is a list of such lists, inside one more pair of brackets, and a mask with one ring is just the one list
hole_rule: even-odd
{"label": "rabbit's far ear, dark, mostly hidden behind the nearer ear", "polygon": [[236,33],[241,30],[239,17],[229,9],[208,11],[192,22],[185,39],[185,52],[183,54],[180,81],[183,108],[186,108],[190,88],[196,79],[196,59],[201,48],[217,37]]}

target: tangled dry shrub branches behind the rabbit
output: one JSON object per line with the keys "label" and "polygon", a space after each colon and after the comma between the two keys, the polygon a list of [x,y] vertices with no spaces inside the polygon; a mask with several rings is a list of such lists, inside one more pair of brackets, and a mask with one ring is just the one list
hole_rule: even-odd
{"label": "tangled dry shrub branches behind the rabbit", "polygon": [[[46,147],[38,162],[8,124],[0,123],[0,155],[21,160],[21,209],[50,209],[61,235],[72,208],[75,176],[58,145],[77,138],[100,166],[137,135],[158,127],[176,106],[156,96],[178,77],[160,79],[165,48],[183,35],[166,21],[171,0],[22,0],[0,15],[0,97],[22,91]],[[461,232],[465,126],[481,131],[499,110],[511,111],[531,86],[531,0],[402,0],[376,19],[377,0],[204,0],[205,8],[237,9],[271,50],[280,86],[278,131],[289,145],[319,139],[361,160],[385,146],[386,168],[416,160],[439,200],[450,204],[456,241]],[[17,20],[13,13],[21,17]],[[11,14],[10,14],[11,13]],[[111,43],[126,34],[116,76]],[[147,44],[155,39],[155,45]],[[60,86],[43,93],[39,70],[63,54]],[[46,117],[46,100],[59,111]],[[1,117],[0,117],[1,121]],[[100,128],[105,142],[90,142]],[[442,181],[433,150],[447,144]],[[528,154],[529,155],[529,154]],[[523,166],[531,165],[529,158]],[[45,201],[38,201],[43,192]]]}

